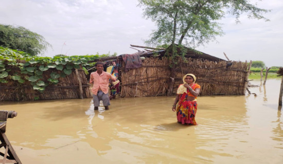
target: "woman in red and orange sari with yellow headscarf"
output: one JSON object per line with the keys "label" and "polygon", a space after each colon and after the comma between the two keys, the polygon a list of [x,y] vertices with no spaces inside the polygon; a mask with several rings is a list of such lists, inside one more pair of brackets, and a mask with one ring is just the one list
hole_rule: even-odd
{"label": "woman in red and orange sari with yellow headscarf", "polygon": [[176,111],[180,124],[197,125],[194,118],[198,109],[197,96],[201,91],[201,86],[195,83],[196,76],[193,74],[186,74],[183,77],[183,82],[184,84],[181,84],[177,90],[172,111]]}

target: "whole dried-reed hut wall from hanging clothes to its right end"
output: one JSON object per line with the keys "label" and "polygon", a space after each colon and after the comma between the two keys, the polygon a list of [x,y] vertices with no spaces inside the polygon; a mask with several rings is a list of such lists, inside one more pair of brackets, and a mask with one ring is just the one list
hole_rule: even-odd
{"label": "whole dried-reed hut wall from hanging clothes to its right end", "polygon": [[[122,66],[124,68],[125,66]],[[227,61],[208,61],[201,59],[183,59],[178,61],[174,79],[174,94],[183,83],[187,73],[196,75],[201,86],[200,95],[244,95],[247,76],[247,62],[233,61],[227,67]],[[143,66],[125,72],[121,70],[121,97],[165,96],[169,77],[168,59],[146,58]]]}

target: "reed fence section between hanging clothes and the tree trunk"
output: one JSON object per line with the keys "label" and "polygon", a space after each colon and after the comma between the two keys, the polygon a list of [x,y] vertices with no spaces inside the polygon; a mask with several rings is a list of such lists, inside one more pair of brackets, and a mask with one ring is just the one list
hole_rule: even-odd
{"label": "reed fence section between hanging clothes and the tree trunk", "polygon": [[[123,63],[122,68],[125,68]],[[121,97],[165,95],[169,68],[167,58],[146,58],[143,66],[127,72],[121,70]]]}

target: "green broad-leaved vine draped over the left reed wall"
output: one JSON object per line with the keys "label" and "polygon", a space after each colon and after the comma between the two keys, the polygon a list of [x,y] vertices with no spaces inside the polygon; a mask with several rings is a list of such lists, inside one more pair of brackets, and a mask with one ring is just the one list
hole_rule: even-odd
{"label": "green broad-leaved vine draped over the left reed wall", "polygon": [[[107,55],[83,55],[83,56],[55,56],[40,57],[31,56],[25,52],[0,47],[0,86],[9,80],[15,81],[18,86],[30,84],[33,90],[43,92],[48,85],[59,83],[59,77],[72,74],[75,69],[90,67],[88,62]],[[19,71],[12,71],[17,68]],[[52,69],[47,81],[43,80],[43,73]],[[59,70],[61,73],[58,73]],[[48,71],[50,72],[50,70]]]}

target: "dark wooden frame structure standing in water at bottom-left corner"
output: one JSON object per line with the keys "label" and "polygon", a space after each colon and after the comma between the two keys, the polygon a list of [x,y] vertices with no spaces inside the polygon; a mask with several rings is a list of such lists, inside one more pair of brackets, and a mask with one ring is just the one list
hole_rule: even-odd
{"label": "dark wooden frame structure standing in water at bottom-left corner", "polygon": [[0,159],[0,163],[22,163],[19,157],[17,157],[12,145],[10,144],[9,139],[5,134],[7,119],[13,118],[16,115],[17,113],[15,111],[0,111],[0,148],[5,148],[4,153],[0,152],[0,155],[4,157],[3,159]]}

